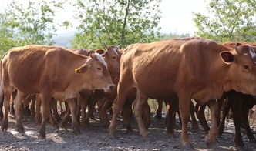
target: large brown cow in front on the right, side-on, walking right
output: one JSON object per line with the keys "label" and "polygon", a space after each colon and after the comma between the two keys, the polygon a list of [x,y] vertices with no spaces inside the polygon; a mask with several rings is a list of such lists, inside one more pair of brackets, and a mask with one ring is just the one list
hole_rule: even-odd
{"label": "large brown cow in front on the right, side-on, walking right", "polygon": [[141,116],[147,98],[168,99],[176,93],[180,102],[183,145],[191,148],[187,134],[191,99],[210,106],[212,126],[205,138],[207,146],[210,145],[217,136],[217,105],[209,100],[218,99],[231,89],[256,94],[256,57],[250,52],[250,45],[238,44],[236,49],[230,49],[203,38],[128,46],[120,61],[120,81],[109,134],[115,133],[117,115],[130,89],[137,90],[133,106],[142,136],[148,135]]}

